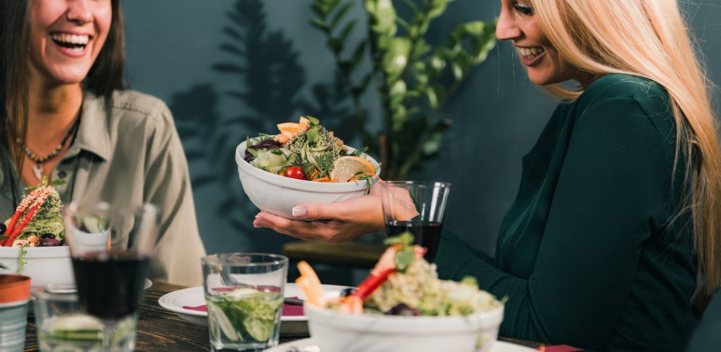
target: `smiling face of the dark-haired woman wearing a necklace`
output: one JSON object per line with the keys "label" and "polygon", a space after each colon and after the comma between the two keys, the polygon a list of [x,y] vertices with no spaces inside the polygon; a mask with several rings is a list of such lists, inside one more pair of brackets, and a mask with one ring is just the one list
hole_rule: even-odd
{"label": "smiling face of the dark-haired woman wearing a necklace", "polygon": [[110,0],[33,0],[30,71],[51,84],[87,76],[112,22]]}

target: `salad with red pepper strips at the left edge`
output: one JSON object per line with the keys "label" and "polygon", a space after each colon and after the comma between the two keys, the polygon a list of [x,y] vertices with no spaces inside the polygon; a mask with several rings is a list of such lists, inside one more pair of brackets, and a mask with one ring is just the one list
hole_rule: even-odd
{"label": "salad with red pepper strips at the left edge", "polygon": [[54,247],[64,245],[63,202],[53,185],[63,180],[43,182],[27,188],[15,214],[0,224],[0,246]]}

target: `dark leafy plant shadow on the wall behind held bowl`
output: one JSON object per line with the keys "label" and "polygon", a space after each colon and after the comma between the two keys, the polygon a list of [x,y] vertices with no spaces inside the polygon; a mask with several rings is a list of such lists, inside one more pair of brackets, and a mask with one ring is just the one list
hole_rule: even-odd
{"label": "dark leafy plant shadow on the wall behind held bowl", "polygon": [[[218,113],[221,94],[211,84],[199,84],[174,94],[171,109],[178,133],[193,167],[191,182],[196,193],[205,187],[220,188],[211,207],[214,221],[227,221],[237,235],[245,235],[245,250],[278,251],[286,237],[267,237],[267,229],[254,229],[253,216],[258,209],[243,193],[234,162],[236,146],[246,136],[273,133],[275,124],[301,114],[328,117],[324,125],[340,136],[353,136],[347,106],[347,89],[342,89],[340,74],[332,84],[314,84],[312,100],[301,96],[306,84],[305,71],[298,63],[298,51],[283,32],[267,28],[262,0],[236,0],[227,13],[230,25],[223,28],[222,50],[229,60],[213,64],[213,70],[237,79],[237,87],[226,97],[244,105],[241,115],[222,117]],[[201,228],[203,228],[201,224]],[[272,238],[272,239],[270,239]]]}

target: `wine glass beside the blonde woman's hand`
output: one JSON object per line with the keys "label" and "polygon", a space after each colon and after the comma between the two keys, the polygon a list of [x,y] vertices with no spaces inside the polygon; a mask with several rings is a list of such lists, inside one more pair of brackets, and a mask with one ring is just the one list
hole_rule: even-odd
{"label": "wine glass beside the blonde woman's hand", "polygon": [[387,234],[411,232],[415,243],[426,248],[425,260],[433,262],[449,193],[451,184],[447,182],[383,182],[381,198]]}

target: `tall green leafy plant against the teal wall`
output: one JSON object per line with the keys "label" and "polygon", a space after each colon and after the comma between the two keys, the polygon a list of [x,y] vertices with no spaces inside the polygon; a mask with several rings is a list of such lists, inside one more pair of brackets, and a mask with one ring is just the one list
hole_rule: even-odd
{"label": "tall green leafy plant against the teal wall", "polygon": [[[404,180],[425,160],[438,157],[451,120],[439,118],[449,98],[474,66],[495,47],[495,22],[466,22],[445,43],[425,40],[431,22],[454,0],[363,0],[368,33],[352,40],[356,21],[348,19],[357,0],[314,0],[311,25],[324,33],[353,101],[355,127],[363,145],[379,155],[386,180]],[[394,4],[402,3],[400,16]],[[370,52],[372,66],[360,65]],[[349,55],[350,54],[350,55]],[[374,86],[382,105],[380,133],[368,130],[361,94]],[[377,137],[376,137],[377,136]]]}

